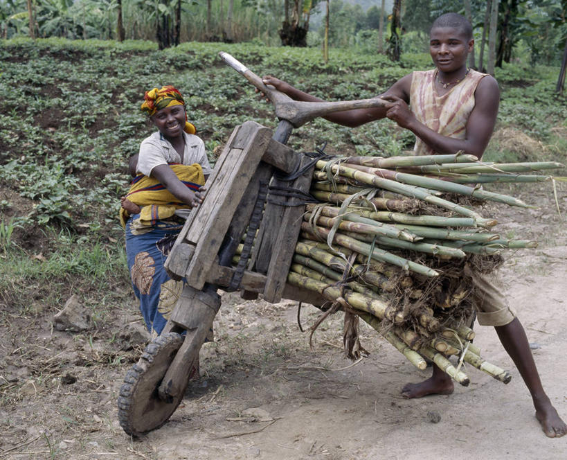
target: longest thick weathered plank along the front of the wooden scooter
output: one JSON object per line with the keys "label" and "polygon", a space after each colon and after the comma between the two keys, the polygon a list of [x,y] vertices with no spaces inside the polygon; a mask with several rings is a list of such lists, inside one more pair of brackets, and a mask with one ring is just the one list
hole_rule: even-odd
{"label": "longest thick weathered plank along the front of the wooden scooter", "polygon": [[267,127],[253,121],[243,123],[235,141],[241,142],[244,148],[231,148],[217,179],[210,184],[203,204],[197,209],[185,238],[186,242],[195,243],[195,254],[186,272],[187,283],[193,288],[203,288],[208,270],[270,137],[271,130]]}

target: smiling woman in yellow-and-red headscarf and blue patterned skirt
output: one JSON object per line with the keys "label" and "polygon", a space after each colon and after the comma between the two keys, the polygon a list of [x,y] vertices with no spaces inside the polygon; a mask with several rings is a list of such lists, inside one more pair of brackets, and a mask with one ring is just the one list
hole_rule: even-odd
{"label": "smiling woman in yellow-and-red headscarf and blue patterned skirt", "polygon": [[[134,293],[146,327],[159,335],[182,289],[163,263],[183,227],[176,211],[201,204],[211,168],[205,145],[187,121],[183,97],[165,86],[146,91],[143,112],[158,131],[144,139],[130,161],[135,177],[122,201],[126,254]],[[137,158],[136,158],[137,157]]]}

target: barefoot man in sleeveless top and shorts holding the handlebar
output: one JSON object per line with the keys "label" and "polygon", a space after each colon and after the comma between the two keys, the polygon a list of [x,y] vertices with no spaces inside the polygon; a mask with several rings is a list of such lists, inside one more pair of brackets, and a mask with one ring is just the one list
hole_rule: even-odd
{"label": "barefoot man in sleeveless top and shorts holding the handlebar", "polygon": [[[492,76],[467,69],[473,46],[469,21],[456,13],[442,15],[430,32],[429,50],[435,69],[413,72],[395,82],[381,95],[390,101],[388,107],[336,112],[325,118],[349,127],[390,118],[415,134],[416,154],[453,154],[462,150],[480,159],[494,130],[500,92]],[[321,101],[277,78],[268,76],[263,81],[295,100]],[[468,272],[476,288],[479,323],[496,329],[530,391],[543,432],[549,437],[564,436],[567,426],[543,390],[519,319],[491,280],[470,269]],[[431,378],[406,384],[402,389],[406,398],[452,392],[451,378],[437,366],[433,366]]]}

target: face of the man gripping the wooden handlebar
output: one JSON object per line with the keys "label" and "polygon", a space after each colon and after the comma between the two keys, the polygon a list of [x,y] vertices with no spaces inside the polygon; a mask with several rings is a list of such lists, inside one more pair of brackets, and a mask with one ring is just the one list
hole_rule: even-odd
{"label": "face of the man gripping the wooden handlebar", "polygon": [[462,30],[453,27],[435,27],[429,34],[429,53],[440,71],[450,73],[467,64],[467,56],[474,46]]}

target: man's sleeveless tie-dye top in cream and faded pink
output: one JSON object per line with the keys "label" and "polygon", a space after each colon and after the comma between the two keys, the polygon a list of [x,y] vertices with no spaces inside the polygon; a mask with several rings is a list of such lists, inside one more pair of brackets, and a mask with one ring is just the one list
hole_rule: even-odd
{"label": "man's sleeveless tie-dye top in cream and faded pink", "polygon": [[[461,82],[443,96],[435,89],[437,69],[415,71],[411,78],[411,111],[429,129],[447,137],[465,139],[467,120],[474,108],[474,91],[486,73],[470,70]],[[413,148],[417,155],[431,155],[433,150],[419,137]]]}

